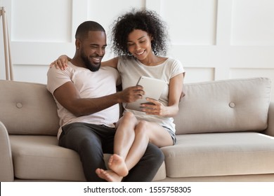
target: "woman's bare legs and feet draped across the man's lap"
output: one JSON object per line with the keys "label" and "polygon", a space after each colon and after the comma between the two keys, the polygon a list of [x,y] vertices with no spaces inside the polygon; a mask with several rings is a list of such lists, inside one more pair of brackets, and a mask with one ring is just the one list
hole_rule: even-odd
{"label": "woman's bare legs and feet draped across the man's lap", "polygon": [[111,156],[108,163],[111,170],[102,171],[101,169],[98,174],[100,178],[117,181],[117,176],[121,178],[126,176],[129,170],[141,160],[148,142],[158,147],[173,145],[171,136],[164,127],[144,120],[138,124],[137,122],[132,113],[127,113],[119,121],[115,134],[115,154]]}

